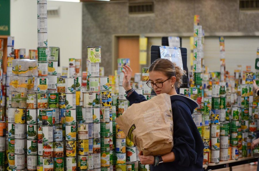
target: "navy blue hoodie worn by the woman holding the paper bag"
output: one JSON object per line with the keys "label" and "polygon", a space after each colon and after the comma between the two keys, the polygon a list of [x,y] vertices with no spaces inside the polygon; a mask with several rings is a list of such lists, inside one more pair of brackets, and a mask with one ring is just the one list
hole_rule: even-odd
{"label": "navy blue hoodie worn by the woman holding the paper bag", "polygon": [[[174,162],[151,165],[151,171],[201,171],[203,170],[203,141],[191,114],[198,104],[184,95],[173,95],[171,98],[174,122]],[[146,101],[146,98],[133,92],[129,97],[130,105]]]}

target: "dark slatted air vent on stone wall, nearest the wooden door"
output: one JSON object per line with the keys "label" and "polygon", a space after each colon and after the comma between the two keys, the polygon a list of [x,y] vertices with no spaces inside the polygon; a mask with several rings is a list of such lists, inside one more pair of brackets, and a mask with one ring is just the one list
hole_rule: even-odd
{"label": "dark slatted air vent on stone wall, nearest the wooden door", "polygon": [[154,3],[130,3],[129,4],[129,14],[147,14],[154,12]]}

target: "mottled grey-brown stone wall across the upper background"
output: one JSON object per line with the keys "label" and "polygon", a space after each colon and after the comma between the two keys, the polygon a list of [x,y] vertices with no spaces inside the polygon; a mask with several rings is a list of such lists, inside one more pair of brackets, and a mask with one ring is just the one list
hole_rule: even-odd
{"label": "mottled grey-brown stone wall across the upper background", "polygon": [[239,0],[154,0],[154,14],[148,15],[129,15],[128,1],[83,3],[83,68],[86,46],[102,46],[101,66],[109,75],[113,34],[193,32],[195,14],[210,36],[215,32],[249,35],[259,30],[259,12],[239,11]]}

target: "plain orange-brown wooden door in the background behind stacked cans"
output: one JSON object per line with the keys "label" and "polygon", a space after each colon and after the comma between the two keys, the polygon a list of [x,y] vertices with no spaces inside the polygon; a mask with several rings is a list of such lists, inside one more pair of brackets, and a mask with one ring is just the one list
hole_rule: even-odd
{"label": "plain orange-brown wooden door in the background behind stacked cans", "polygon": [[118,37],[118,58],[129,58],[130,67],[135,73],[140,73],[139,65],[139,37]]}

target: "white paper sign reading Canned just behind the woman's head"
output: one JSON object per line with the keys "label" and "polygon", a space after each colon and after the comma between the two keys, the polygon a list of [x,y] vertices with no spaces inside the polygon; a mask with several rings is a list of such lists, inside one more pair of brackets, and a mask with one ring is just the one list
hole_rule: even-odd
{"label": "white paper sign reading Canned just behind the woman's head", "polygon": [[161,58],[168,59],[169,61],[176,63],[176,65],[183,70],[180,48],[169,46],[160,46],[159,48]]}

